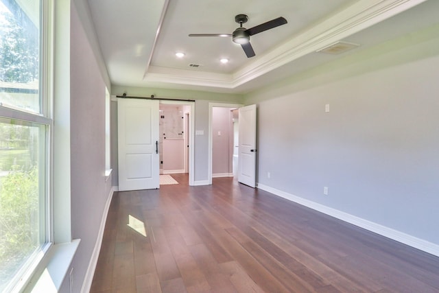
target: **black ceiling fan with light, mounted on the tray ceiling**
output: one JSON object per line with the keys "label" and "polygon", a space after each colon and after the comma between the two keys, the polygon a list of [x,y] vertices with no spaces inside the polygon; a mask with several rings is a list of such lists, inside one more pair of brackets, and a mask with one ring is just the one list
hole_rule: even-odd
{"label": "black ceiling fan with light, mounted on the tray ceiling", "polygon": [[285,25],[287,20],[283,17],[278,17],[277,19],[272,19],[266,23],[262,23],[250,29],[242,27],[243,23],[248,21],[248,16],[246,14],[238,14],[235,16],[235,21],[239,23],[239,27],[233,32],[233,34],[189,34],[189,36],[231,36],[233,43],[241,45],[242,49],[246,53],[248,58],[255,56],[253,47],[250,45],[250,36],[254,34],[259,34],[260,32],[265,32],[266,30],[271,30],[279,25]]}

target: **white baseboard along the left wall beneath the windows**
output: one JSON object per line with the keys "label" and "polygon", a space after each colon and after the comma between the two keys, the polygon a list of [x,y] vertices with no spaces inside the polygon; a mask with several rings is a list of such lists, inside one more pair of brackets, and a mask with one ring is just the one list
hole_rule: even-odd
{"label": "white baseboard along the left wall beneath the windows", "polygon": [[97,259],[99,258],[99,252],[102,246],[102,237],[104,237],[105,224],[108,216],[108,210],[110,209],[110,204],[112,200],[112,195],[115,193],[115,187],[111,187],[110,194],[108,194],[107,202],[104,207],[104,213],[102,214],[101,226],[99,226],[99,233],[97,234],[95,248],[93,249],[93,254],[91,255],[90,262],[88,263],[87,272],[85,274],[84,283],[82,283],[81,292],[88,293],[91,289],[91,283],[93,282],[93,276],[95,275],[95,270],[97,266]]}

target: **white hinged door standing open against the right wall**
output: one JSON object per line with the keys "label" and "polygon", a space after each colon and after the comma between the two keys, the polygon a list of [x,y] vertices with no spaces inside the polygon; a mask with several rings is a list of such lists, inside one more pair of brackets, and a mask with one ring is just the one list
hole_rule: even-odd
{"label": "white hinged door standing open against the right wall", "polygon": [[256,186],[256,105],[239,108],[238,181]]}

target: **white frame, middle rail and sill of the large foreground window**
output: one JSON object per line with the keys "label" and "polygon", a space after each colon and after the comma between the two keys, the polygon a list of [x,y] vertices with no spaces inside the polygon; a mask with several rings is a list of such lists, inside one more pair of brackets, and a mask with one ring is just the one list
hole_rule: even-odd
{"label": "white frame, middle rail and sill of the large foreground window", "polygon": [[[57,292],[80,239],[71,239],[70,1],[40,1],[41,114],[0,107],[0,116],[47,126],[46,239],[14,292]],[[54,30],[56,27],[56,30]],[[56,55],[54,52],[56,51]],[[56,75],[56,80],[54,76]],[[54,97],[57,97],[54,103]],[[56,125],[54,126],[54,121]],[[56,200],[54,200],[56,199]]]}

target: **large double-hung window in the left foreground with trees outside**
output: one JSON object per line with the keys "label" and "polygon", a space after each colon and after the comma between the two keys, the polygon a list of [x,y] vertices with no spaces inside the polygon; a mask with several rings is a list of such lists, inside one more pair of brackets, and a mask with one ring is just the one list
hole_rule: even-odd
{"label": "large double-hung window in the left foreground with trees outside", "polygon": [[0,292],[22,286],[51,242],[42,6],[0,0]]}

